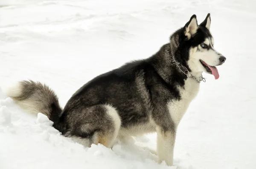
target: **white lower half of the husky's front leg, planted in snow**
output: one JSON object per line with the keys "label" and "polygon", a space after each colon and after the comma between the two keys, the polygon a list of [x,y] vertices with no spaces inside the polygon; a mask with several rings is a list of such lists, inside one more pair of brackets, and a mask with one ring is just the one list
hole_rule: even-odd
{"label": "white lower half of the husky's front leg, planted in snow", "polygon": [[175,145],[175,129],[157,127],[157,156],[158,163],[165,161],[168,166],[173,165],[173,151]]}

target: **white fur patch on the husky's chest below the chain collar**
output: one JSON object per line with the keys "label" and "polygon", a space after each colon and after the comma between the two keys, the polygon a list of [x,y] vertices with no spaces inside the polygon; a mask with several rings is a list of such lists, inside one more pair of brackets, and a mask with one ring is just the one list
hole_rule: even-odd
{"label": "white fur patch on the husky's chest below the chain collar", "polygon": [[181,96],[180,100],[171,100],[167,103],[169,113],[176,126],[180,123],[180,120],[189,107],[190,102],[197,95],[199,86],[199,83],[195,80],[191,78],[186,79],[184,87],[177,87]]}

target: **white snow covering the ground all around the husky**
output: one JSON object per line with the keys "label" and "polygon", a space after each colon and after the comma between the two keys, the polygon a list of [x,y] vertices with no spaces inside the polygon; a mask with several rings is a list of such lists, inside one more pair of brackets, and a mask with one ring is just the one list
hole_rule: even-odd
{"label": "white snow covering the ground all around the husky", "polygon": [[154,161],[156,135],[84,148],[0,90],[0,169],[256,169],[255,0],[0,0],[0,87],[38,80],[64,106],[93,77],[151,56],[208,12],[227,61],[220,79],[204,74],[178,128],[175,166]]}

